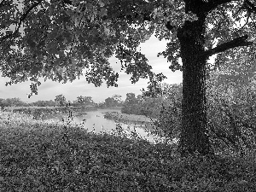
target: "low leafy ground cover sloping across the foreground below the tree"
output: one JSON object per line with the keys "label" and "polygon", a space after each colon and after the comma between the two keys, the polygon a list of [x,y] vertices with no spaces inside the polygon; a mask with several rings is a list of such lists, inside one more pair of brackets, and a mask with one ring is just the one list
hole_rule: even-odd
{"label": "low leafy ground cover sloping across the foreground below the tree", "polygon": [[0,191],[255,191],[256,155],[151,144],[0,111]]}

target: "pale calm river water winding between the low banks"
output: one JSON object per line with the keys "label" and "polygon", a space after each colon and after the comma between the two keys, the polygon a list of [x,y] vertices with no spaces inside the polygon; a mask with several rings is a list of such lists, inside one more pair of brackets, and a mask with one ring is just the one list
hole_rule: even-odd
{"label": "pale calm river water winding between the low banks", "polygon": [[[107,112],[119,112],[118,109],[98,109],[96,111],[87,111],[84,113],[73,113],[72,120],[68,119],[68,113],[49,114],[44,119],[55,119],[57,121],[70,122],[72,125],[80,125],[88,131],[94,131],[96,133],[108,132],[116,130],[117,122],[112,119],[105,119],[104,113]],[[69,121],[68,121],[69,120]],[[118,122],[125,132],[127,137],[131,137],[132,131],[136,131],[137,135],[147,139],[150,143],[157,143],[160,137],[155,137],[148,133],[147,129],[152,128],[152,125],[146,124],[124,124]],[[147,129],[145,129],[147,127]]]}

